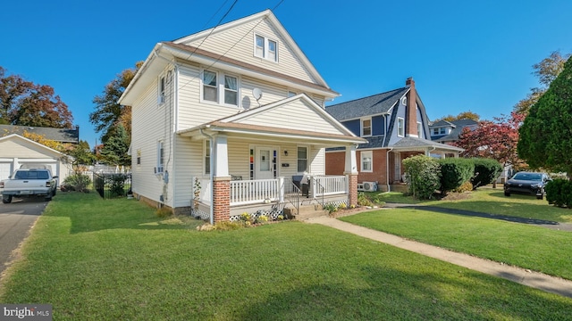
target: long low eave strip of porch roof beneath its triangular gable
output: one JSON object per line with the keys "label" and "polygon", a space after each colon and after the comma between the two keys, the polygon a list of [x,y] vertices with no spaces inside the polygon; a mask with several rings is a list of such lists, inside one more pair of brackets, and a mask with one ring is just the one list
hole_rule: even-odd
{"label": "long low eave strip of porch roof beneath its triangular gable", "polygon": [[226,134],[228,136],[241,136],[251,138],[264,138],[268,140],[294,140],[305,144],[317,144],[323,146],[341,146],[349,144],[364,144],[366,139],[357,136],[341,134],[328,134],[309,130],[274,128],[269,126],[242,124],[236,122],[223,122],[215,120],[195,128],[178,131],[181,136],[193,139],[206,138],[201,130],[209,135]]}

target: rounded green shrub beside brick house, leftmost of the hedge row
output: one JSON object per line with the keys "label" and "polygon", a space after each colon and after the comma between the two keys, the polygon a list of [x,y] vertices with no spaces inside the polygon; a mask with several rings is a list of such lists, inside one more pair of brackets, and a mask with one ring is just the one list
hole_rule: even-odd
{"label": "rounded green shrub beside brick house, leftmost of the hedge row", "polygon": [[407,173],[409,193],[417,199],[431,200],[439,189],[441,170],[439,163],[425,155],[417,155],[403,160]]}

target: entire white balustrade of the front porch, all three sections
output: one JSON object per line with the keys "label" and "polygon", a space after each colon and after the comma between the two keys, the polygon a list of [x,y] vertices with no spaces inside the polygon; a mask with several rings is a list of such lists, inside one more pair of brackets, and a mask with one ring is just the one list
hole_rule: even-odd
{"label": "entire white balustrade of the front porch, all three sections", "polygon": [[[264,202],[284,201],[284,177],[274,179],[231,180],[231,206],[256,204]],[[291,181],[287,180],[288,182]],[[198,178],[200,190],[198,201],[203,204],[211,203],[211,181],[208,178]],[[348,193],[348,177],[345,176],[312,176],[310,196],[323,196]],[[193,198],[195,178],[193,177]]]}

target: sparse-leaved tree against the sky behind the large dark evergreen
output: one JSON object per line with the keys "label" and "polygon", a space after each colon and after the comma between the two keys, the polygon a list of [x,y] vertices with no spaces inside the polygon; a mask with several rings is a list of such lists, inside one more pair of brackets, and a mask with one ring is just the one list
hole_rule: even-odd
{"label": "sparse-leaved tree against the sky behind the large dark evergreen", "polygon": [[541,86],[534,87],[530,89],[530,93],[526,95],[526,98],[518,102],[513,110],[517,113],[526,115],[530,110],[530,107],[534,103],[538,102],[538,99],[546,92],[548,86],[551,82],[556,79],[559,73],[564,70],[564,63],[568,61],[568,58],[572,53],[562,55],[559,51],[551,53],[548,57],[544,58],[542,62],[535,63],[533,65],[533,75],[538,78]]}

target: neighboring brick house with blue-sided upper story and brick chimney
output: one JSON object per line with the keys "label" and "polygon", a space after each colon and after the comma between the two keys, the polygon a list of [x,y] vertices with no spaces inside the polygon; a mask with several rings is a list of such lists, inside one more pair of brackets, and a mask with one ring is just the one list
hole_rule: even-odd
{"label": "neighboring brick house with blue-sided upper story and brick chimney", "polygon": [[[404,159],[416,154],[458,157],[463,151],[430,139],[425,104],[412,78],[407,79],[405,87],[327,106],[325,110],[356,136],[367,139],[366,144],[357,147],[358,185],[372,182],[388,190],[392,184],[403,182]],[[343,159],[341,149],[327,149],[326,174],[339,175],[344,170]]]}

